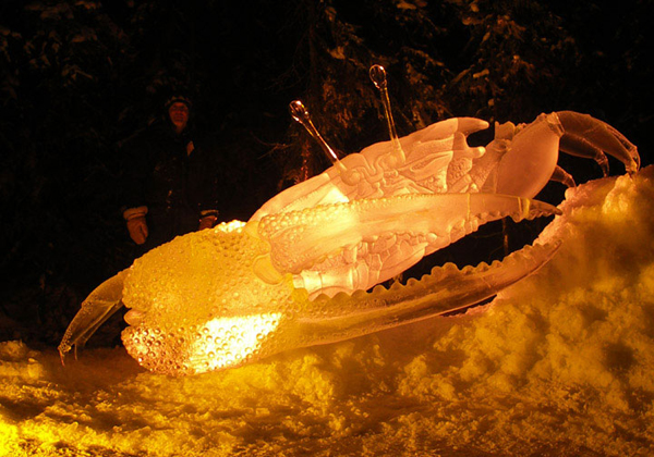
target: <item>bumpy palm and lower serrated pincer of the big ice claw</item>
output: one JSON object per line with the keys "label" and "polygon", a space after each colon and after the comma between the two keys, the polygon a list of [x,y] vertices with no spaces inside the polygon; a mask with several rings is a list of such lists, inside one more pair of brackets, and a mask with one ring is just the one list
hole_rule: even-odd
{"label": "bumpy palm and lower serrated pincer of the big ice claw", "polygon": [[[407,285],[396,283],[388,289],[377,286],[371,293],[356,291],[308,300],[305,291],[292,291],[286,280],[265,287],[257,282],[249,262],[257,257],[258,248],[241,243],[252,239],[247,231],[238,228],[231,233],[234,238],[230,243],[239,242],[235,252],[223,251],[205,233],[193,234],[193,243],[177,238],[177,243],[165,245],[158,256],[164,259],[169,252],[179,252],[179,245],[193,244],[201,258],[187,259],[187,271],[168,268],[170,262],[157,265],[155,257],[144,258],[130,272],[125,288],[136,284],[140,287],[126,305],[145,312],[137,326],[123,332],[123,342],[141,365],[167,374],[196,374],[431,318],[497,294],[545,264],[558,248],[558,244],[528,246],[491,265],[459,270],[449,263],[420,281],[409,280]],[[265,243],[256,244],[265,247]],[[235,269],[241,280],[218,277],[211,285],[215,292],[223,294],[211,296],[199,291],[189,309],[187,296],[174,297],[170,291],[183,291],[191,286],[189,281],[208,281],[202,260],[215,256],[220,262],[210,265],[209,277],[223,265],[226,271]],[[153,273],[159,273],[156,281]]]}

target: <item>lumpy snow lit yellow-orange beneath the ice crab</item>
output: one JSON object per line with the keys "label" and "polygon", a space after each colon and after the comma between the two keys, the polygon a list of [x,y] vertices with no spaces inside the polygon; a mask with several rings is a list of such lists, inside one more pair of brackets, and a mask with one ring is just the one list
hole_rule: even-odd
{"label": "lumpy snow lit yellow-orange beneath the ice crab", "polygon": [[190,378],[0,343],[0,456],[654,455],[654,166],[561,209],[463,316]]}

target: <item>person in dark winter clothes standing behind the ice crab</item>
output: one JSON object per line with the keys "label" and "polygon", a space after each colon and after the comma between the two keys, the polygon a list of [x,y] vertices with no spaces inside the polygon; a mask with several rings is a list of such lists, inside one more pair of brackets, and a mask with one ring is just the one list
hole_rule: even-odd
{"label": "person in dark winter clothes standing behind the ice crab", "polygon": [[140,254],[218,219],[217,155],[192,128],[191,111],[189,98],[171,97],[164,122],[125,145],[122,215]]}

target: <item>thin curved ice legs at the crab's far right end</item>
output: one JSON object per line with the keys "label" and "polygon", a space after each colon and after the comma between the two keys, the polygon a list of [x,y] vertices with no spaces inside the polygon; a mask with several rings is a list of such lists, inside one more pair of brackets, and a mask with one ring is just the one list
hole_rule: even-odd
{"label": "thin curved ice legs at the crab's far right end", "polygon": [[607,123],[574,111],[559,111],[557,115],[565,131],[561,151],[595,160],[604,176],[608,175],[606,153],[622,162],[629,173],[640,168],[638,148]]}

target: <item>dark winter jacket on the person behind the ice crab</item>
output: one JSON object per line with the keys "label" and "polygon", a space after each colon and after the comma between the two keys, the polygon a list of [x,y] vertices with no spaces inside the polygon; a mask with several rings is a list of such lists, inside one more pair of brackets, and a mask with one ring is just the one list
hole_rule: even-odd
{"label": "dark winter jacket on the person behind the ice crab", "polygon": [[147,207],[146,248],[193,232],[201,215],[217,213],[218,152],[210,140],[186,131],[178,135],[162,123],[124,146],[124,209]]}

